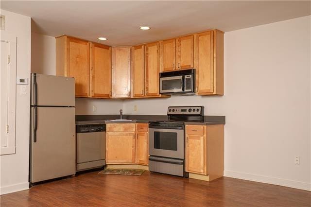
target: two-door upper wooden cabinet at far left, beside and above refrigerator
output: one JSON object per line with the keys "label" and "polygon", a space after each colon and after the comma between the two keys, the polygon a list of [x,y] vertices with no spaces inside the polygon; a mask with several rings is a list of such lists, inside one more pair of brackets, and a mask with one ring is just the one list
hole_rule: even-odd
{"label": "two-door upper wooden cabinet at far left, beside and above refrigerator", "polygon": [[75,78],[76,97],[110,97],[110,47],[62,35],[56,37],[56,75]]}

